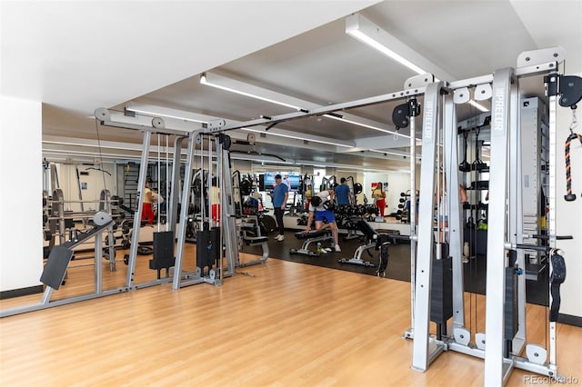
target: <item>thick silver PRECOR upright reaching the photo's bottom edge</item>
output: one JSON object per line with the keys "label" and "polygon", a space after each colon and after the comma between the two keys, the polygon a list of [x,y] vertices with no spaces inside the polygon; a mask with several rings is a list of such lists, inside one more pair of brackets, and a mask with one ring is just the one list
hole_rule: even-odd
{"label": "thick silver PRECOR upright reaching the photo's bottom edge", "polygon": [[485,329],[485,385],[504,382],[504,301],[506,257],[507,128],[509,88],[513,69],[493,74],[491,108],[491,160],[489,162],[489,209],[487,227],[487,301]]}

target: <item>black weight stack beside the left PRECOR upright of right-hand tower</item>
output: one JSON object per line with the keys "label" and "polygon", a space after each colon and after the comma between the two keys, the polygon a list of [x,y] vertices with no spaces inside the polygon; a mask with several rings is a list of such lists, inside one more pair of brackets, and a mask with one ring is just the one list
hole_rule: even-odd
{"label": "black weight stack beside the left PRECOR upright of right-hand tower", "polygon": [[430,321],[446,324],[453,317],[453,259],[433,261]]}

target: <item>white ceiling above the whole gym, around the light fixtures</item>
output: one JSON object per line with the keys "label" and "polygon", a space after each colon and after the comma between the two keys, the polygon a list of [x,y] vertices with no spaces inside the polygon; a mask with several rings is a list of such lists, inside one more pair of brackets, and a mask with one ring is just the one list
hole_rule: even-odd
{"label": "white ceiling above the whole gym, around the light fixtures", "polygon": [[[553,45],[566,48],[567,71],[582,72],[580,1],[376,3],[3,1],[0,91],[44,103],[45,140],[91,144],[95,122],[86,117],[95,108],[119,109],[128,101],[236,121],[289,113],[282,106],[199,84],[204,72],[320,105],[402,90],[414,75],[410,70],[345,34],[345,16],[360,10],[456,79],[515,67],[521,52]],[[531,80],[526,93],[541,96],[541,80]],[[393,127],[395,105],[349,113]],[[461,117],[476,113],[470,108],[459,112]],[[380,150],[396,146],[391,135],[322,117],[277,124],[270,133],[276,131],[354,144],[369,137]],[[345,148],[271,134],[256,151],[296,162],[386,169],[407,164],[394,155],[359,148],[339,152]],[[104,128],[99,136],[105,142],[141,143],[141,136],[131,131]]]}

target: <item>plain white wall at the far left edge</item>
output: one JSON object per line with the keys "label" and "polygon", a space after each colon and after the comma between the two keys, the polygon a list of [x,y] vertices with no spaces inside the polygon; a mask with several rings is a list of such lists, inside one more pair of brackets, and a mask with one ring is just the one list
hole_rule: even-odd
{"label": "plain white wall at the far left edge", "polygon": [[0,292],[43,270],[42,105],[0,95]]}

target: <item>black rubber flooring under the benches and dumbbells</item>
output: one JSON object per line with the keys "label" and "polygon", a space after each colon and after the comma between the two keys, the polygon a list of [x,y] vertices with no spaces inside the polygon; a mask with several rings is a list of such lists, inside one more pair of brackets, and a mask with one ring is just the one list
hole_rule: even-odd
{"label": "black rubber flooring under the benches and dumbbells", "polygon": [[[369,249],[362,253],[362,259],[366,262],[374,263],[375,267],[366,267],[363,265],[339,263],[338,260],[349,259],[354,256],[356,249],[366,241],[359,239],[344,240],[345,235],[340,234],[339,245],[342,248],[341,253],[322,253],[319,256],[309,256],[305,254],[290,253],[291,249],[300,249],[304,241],[296,239],[296,231],[286,231],[285,240],[278,242],[275,239],[276,233],[269,235],[269,256],[271,258],[281,259],[296,263],[314,264],[316,266],[328,267],[336,270],[345,270],[352,273],[361,273],[367,275],[376,275],[376,266],[379,262],[379,252],[376,249]],[[312,243],[309,248],[316,249],[316,243]],[[329,247],[329,243],[323,243],[322,247]],[[260,246],[244,246],[244,253],[254,253],[262,255],[263,251]],[[478,256],[471,259],[469,263],[463,264],[465,291],[470,293],[485,294],[487,262],[485,256]],[[391,244],[388,256],[388,265],[386,267],[386,278],[398,281],[410,282],[410,244],[403,242]],[[547,274],[540,277],[538,281],[526,282],[527,303],[537,303],[547,305]]]}

